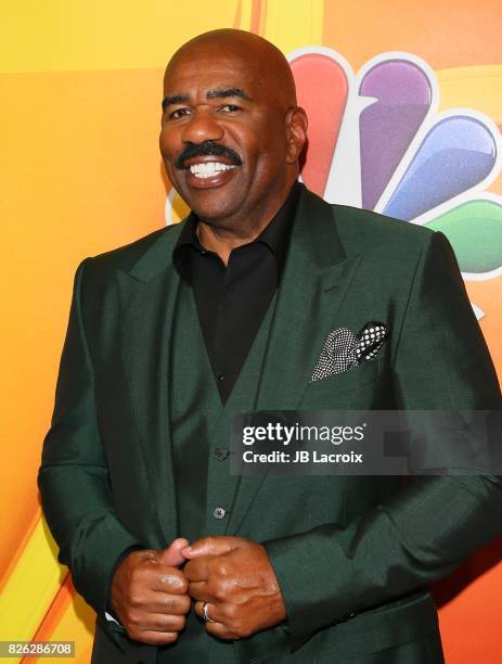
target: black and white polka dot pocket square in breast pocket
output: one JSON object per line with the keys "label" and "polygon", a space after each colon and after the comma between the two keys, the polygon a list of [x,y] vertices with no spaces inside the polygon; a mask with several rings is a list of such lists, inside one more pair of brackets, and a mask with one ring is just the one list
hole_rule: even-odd
{"label": "black and white polka dot pocket square in breast pocket", "polygon": [[310,382],[342,373],[376,357],[388,336],[387,325],[371,320],[353,334],[348,328],[333,330],[326,336]]}

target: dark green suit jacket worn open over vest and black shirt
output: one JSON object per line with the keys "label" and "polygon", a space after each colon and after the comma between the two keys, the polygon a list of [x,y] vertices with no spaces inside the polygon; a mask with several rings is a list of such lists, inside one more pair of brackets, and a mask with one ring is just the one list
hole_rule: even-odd
{"label": "dark green suit jacket worn open over vest and black shirt", "polygon": [[[155,662],[104,620],[106,592],[126,548],[182,535],[167,407],[180,229],[87,258],[75,277],[38,482],[59,560],[98,612],[93,662]],[[389,329],[377,358],[309,382],[327,334],[371,320]],[[235,641],[236,662],[442,661],[427,585],[500,533],[498,476],[240,480],[213,455],[239,411],[441,408],[501,408],[445,235],[304,189],[258,388],[244,385],[209,442],[206,533],[263,542],[287,611]]]}

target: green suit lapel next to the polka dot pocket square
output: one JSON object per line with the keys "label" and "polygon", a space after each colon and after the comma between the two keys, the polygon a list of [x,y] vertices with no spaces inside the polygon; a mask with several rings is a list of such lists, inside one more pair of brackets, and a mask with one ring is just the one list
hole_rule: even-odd
{"label": "green suit lapel next to the polka dot pocket square", "polygon": [[[325,337],[360,256],[347,258],[334,213],[304,189],[292,230],[254,410],[295,410],[313,373]],[[242,476],[227,532],[235,533],[265,481]]]}

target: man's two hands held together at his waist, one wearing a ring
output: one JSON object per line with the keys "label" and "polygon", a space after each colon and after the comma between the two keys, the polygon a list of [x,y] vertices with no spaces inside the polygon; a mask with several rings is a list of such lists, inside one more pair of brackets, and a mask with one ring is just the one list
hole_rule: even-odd
{"label": "man's two hands held together at his waist, one wearing a ring", "polygon": [[[183,565],[183,570],[179,567]],[[130,638],[172,643],[195,613],[220,639],[240,639],[285,618],[279,584],[265,548],[241,537],[176,539],[164,551],[133,551],[118,566],[112,605]]]}

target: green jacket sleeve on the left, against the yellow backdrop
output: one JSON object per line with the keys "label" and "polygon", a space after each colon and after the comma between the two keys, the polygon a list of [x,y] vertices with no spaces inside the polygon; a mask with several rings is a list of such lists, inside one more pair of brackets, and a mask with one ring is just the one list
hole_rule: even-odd
{"label": "green jacket sleeve on the left, against the yellow backdrop", "polygon": [[51,427],[43,442],[38,486],[42,510],[60,547],[57,560],[75,588],[104,614],[115,563],[141,548],[114,510],[98,427],[91,358],[81,312],[86,258],[77,268],[57,378]]}

